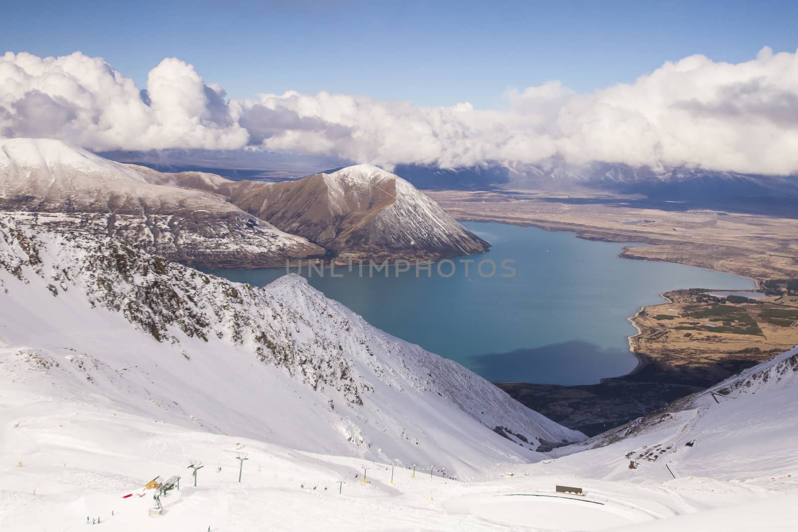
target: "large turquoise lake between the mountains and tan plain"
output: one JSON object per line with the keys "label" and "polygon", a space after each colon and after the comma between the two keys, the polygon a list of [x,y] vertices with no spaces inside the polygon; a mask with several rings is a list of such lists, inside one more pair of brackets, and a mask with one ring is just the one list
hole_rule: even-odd
{"label": "large turquoise lake between the mountains and tan plain", "polygon": [[[753,281],[667,262],[618,258],[625,244],[591,242],[571,233],[502,223],[463,224],[488,242],[486,254],[433,265],[340,278],[302,269],[310,284],[371,324],[472,369],[493,382],[593,384],[630,372],[635,333],[627,320],[642,305],[678,288],[752,290]],[[465,274],[461,260],[469,263]],[[483,263],[482,274],[476,270]],[[515,270],[502,268],[503,261]],[[491,264],[496,264],[492,274]],[[452,268],[453,266],[453,268]],[[452,273],[449,276],[450,273]],[[264,286],[284,269],[208,270]],[[296,269],[292,270],[296,272]]]}

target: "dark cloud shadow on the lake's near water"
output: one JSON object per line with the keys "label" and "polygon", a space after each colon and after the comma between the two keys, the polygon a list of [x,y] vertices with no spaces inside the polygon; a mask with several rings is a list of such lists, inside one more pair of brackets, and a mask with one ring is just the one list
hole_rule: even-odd
{"label": "dark cloud shadow on the lake's near water", "polygon": [[[491,382],[537,384],[595,384],[607,376],[630,371],[631,353],[605,349],[588,341],[574,340],[538,348],[516,349],[471,358],[473,371]],[[617,375],[608,374],[619,368]]]}

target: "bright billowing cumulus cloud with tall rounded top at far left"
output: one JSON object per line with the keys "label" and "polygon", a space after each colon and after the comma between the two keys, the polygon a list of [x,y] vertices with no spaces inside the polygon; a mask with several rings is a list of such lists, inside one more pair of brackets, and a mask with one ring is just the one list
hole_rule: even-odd
{"label": "bright billowing cumulus cloud with tall rounded top at far left", "polygon": [[95,150],[239,148],[248,134],[223,97],[177,59],[161,61],[142,90],[82,53],[0,57],[2,136],[49,136]]}

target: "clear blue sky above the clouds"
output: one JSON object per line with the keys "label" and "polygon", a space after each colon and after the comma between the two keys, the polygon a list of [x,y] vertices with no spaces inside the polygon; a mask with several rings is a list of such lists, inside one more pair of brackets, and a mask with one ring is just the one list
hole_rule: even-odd
{"label": "clear blue sky above the clouds", "polygon": [[704,53],[798,48],[798,2],[17,2],[0,48],[105,57],[144,86],[164,57],[231,97],[319,90],[500,105],[560,80],[587,92]]}

